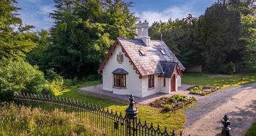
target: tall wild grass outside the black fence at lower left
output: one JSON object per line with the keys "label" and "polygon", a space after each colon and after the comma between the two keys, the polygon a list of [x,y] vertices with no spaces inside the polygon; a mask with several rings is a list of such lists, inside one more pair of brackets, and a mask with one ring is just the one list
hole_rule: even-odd
{"label": "tall wild grass outside the black fence at lower left", "polygon": [[39,108],[0,106],[1,135],[104,135],[103,130],[76,123],[65,112],[45,112]]}

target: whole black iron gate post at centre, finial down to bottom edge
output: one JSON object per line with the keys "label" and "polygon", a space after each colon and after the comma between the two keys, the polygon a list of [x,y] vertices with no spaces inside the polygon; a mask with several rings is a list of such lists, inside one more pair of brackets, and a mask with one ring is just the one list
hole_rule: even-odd
{"label": "whole black iron gate post at centre, finial down to bottom edge", "polygon": [[[138,110],[134,105],[134,96],[131,94],[130,95],[130,105],[128,108],[126,108],[125,113],[126,113],[126,118],[127,118],[127,124],[129,124],[128,128],[129,130],[127,131],[129,133],[129,135],[135,135],[135,119],[137,118],[137,113]],[[136,121],[137,122],[137,121]],[[132,132],[131,132],[132,129]]]}

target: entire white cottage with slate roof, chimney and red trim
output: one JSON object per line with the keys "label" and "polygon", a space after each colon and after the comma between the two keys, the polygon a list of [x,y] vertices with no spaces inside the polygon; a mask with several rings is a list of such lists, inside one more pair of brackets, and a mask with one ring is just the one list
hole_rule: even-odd
{"label": "entire white cottage with slate roof, chimney and red trim", "polygon": [[103,90],[137,97],[177,91],[184,66],[166,43],[150,40],[147,21],[138,23],[137,31],[135,39],[116,39],[98,69]]}

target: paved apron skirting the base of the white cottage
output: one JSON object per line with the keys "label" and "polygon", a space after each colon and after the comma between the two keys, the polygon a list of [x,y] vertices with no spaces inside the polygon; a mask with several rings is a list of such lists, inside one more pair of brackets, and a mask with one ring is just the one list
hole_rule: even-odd
{"label": "paved apron skirting the base of the white cottage", "polygon": [[[150,95],[147,97],[135,97],[135,102],[136,105],[148,105],[150,104],[150,102],[153,102],[156,99],[159,99],[160,97],[170,97],[173,94],[183,94],[183,95],[189,95],[189,96],[195,96],[196,99],[199,99],[199,95],[191,95],[189,94],[189,91],[186,91],[186,89],[188,89],[191,85],[185,85],[182,84],[182,86],[180,86],[178,88],[178,91],[175,91],[171,94],[163,94],[163,93],[158,93],[158,94],[154,94],[154,95]],[[82,91],[83,93],[88,93],[90,95],[96,96],[96,97],[102,97],[103,99],[108,99],[108,100],[112,100],[112,101],[116,101],[116,102],[124,102],[127,103],[129,102],[129,95],[117,95],[117,94],[113,94],[111,91],[106,91],[102,89],[102,85],[95,85],[95,86],[88,86],[86,88],[80,88],[80,91]]]}

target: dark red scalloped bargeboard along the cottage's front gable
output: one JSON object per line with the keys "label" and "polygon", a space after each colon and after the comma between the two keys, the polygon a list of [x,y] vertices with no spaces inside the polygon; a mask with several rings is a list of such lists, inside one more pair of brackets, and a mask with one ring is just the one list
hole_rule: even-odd
{"label": "dark red scalloped bargeboard along the cottage's front gable", "polygon": [[129,62],[131,63],[131,65],[134,66],[135,72],[136,72],[137,74],[139,74],[139,78],[141,79],[141,78],[142,78],[142,74],[140,73],[140,71],[138,70],[138,68],[135,66],[134,62],[132,62],[131,57],[130,57],[130,56],[128,55],[128,53],[125,51],[124,46],[121,45],[121,42],[120,42],[118,39],[116,39],[115,42],[113,43],[113,46],[110,48],[108,55],[106,55],[105,59],[103,60],[103,62],[102,62],[102,64],[100,65],[100,67],[99,67],[99,69],[98,69],[97,72],[98,72],[99,74],[102,72],[102,70],[103,70],[103,68],[104,68],[104,66],[105,66],[105,64],[106,64],[106,62],[108,61],[109,57],[111,57],[111,56],[113,55],[114,50],[115,50],[115,47],[118,46],[118,45],[121,46],[121,48],[122,48],[122,53],[125,54],[125,57],[129,58]]}

